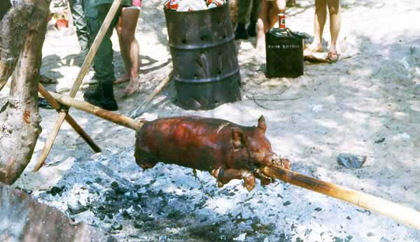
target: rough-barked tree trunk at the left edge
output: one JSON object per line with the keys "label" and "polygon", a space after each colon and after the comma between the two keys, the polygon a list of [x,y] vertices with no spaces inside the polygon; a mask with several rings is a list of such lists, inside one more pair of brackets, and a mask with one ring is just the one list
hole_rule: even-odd
{"label": "rough-barked tree trunk at the left edge", "polygon": [[49,3],[20,0],[1,21],[0,89],[13,73],[8,101],[0,107],[1,183],[19,178],[41,133],[38,80]]}

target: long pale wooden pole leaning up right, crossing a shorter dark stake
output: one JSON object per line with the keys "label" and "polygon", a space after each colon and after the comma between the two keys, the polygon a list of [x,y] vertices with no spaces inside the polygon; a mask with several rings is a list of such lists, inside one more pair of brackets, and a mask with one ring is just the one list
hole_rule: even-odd
{"label": "long pale wooden pole leaning up right, crossing a shorter dark stake", "polygon": [[[87,52],[87,56],[85,58],[85,61],[82,64],[82,67],[80,68],[78,76],[76,80],[74,81],[73,86],[71,87],[70,97],[76,97],[76,93],[78,92],[79,87],[82,84],[83,78],[85,78],[87,71],[89,71],[90,63],[92,63],[92,59],[94,55],[96,55],[99,45],[102,43],[102,40],[104,39],[106,31],[108,31],[113,18],[116,16],[118,8],[120,8],[121,1],[123,0],[113,1],[111,8],[109,9],[109,12],[106,14],[104,23],[102,24],[101,29],[99,29],[99,32],[96,38],[94,38],[92,46],[90,47],[89,52]],[[50,150],[52,148],[52,145],[54,144],[55,138],[57,137],[58,131],[64,122],[64,117],[65,117],[64,114],[59,113],[59,118],[57,119],[57,122],[52,128],[52,132],[50,133],[50,136],[45,142],[45,145],[41,152],[41,156],[38,158],[38,162],[36,163],[36,167],[37,166],[41,167],[42,164],[45,162],[45,159],[47,159],[48,154],[50,153]]]}

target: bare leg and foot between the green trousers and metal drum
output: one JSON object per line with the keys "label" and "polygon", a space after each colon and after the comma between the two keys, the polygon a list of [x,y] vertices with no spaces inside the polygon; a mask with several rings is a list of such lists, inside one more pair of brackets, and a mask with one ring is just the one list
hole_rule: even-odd
{"label": "bare leg and foot between the green trousers and metal drum", "polygon": [[129,95],[139,90],[139,43],[135,38],[139,13],[140,10],[137,8],[125,8],[121,14],[123,22],[121,37],[127,56],[125,69],[130,73],[130,83],[124,92]]}

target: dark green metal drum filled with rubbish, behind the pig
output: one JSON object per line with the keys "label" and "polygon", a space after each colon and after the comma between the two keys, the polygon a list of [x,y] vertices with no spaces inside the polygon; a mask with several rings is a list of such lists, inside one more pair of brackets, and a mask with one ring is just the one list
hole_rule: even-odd
{"label": "dark green metal drum filled with rubbish, behind the pig", "polygon": [[209,110],[241,100],[229,4],[188,12],[164,10],[179,106]]}

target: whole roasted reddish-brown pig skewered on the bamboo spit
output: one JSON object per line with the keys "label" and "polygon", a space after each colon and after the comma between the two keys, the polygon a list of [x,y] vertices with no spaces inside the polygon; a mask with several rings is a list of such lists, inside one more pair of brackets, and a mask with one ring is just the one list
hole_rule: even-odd
{"label": "whole roasted reddish-brown pig skewered on the bamboo spit", "polygon": [[219,187],[232,179],[243,179],[247,190],[255,177],[263,185],[271,179],[260,169],[277,166],[290,169],[290,162],[272,152],[261,116],[257,127],[245,127],[216,118],[184,116],[160,118],[144,124],[136,135],[134,157],[141,168],[158,162],[209,171]]}

